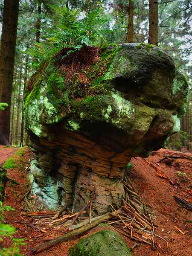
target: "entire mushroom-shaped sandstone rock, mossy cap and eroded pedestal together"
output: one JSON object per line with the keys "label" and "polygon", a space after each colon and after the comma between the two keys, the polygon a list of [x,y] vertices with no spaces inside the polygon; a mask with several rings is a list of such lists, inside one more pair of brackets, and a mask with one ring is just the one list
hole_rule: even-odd
{"label": "entire mushroom-shaped sandstone rock, mossy cap and eroded pedestal together", "polygon": [[[55,207],[79,210],[96,198],[96,214],[120,206],[131,157],[146,157],[180,129],[187,82],[153,45],[61,50],[29,81],[26,131],[36,160],[34,193]],[[65,57],[64,57],[65,56]]]}

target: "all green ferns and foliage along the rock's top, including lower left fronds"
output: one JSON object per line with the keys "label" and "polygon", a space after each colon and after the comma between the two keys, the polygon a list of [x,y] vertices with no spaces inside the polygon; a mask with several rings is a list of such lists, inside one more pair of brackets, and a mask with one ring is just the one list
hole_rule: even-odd
{"label": "all green ferns and foliage along the rock's top, including lower left fronds", "polygon": [[[33,68],[39,67],[52,58],[56,52],[62,48],[71,48],[67,54],[79,51],[83,46],[99,45],[102,38],[102,24],[108,21],[102,13],[102,8],[90,11],[84,14],[75,9],[71,11],[66,7],[51,6],[58,21],[58,26],[43,31],[43,37],[46,41],[35,42],[34,47],[26,50],[26,53],[34,59]],[[63,56],[65,58],[66,56]]]}

